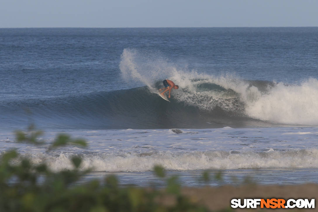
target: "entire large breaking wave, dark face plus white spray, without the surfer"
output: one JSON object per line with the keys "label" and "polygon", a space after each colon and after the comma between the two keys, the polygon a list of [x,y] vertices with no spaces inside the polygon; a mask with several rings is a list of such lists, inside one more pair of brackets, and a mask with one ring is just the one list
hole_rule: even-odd
{"label": "entire large breaking wave, dark face plus white spray, without the surfer", "polygon": [[[42,127],[79,129],[318,125],[318,81],[314,78],[291,85],[202,74],[160,55],[131,49],[123,51],[120,70],[123,83],[133,88],[3,99],[0,124],[25,126],[31,119]],[[157,94],[167,78],[179,85],[171,92],[171,102]]]}

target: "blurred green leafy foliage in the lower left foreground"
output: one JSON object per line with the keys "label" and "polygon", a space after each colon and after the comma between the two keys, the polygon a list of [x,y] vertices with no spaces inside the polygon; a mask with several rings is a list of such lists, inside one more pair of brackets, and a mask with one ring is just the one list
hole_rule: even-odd
{"label": "blurred green leafy foliage in the lower left foreground", "polygon": [[[41,131],[30,127],[28,132],[16,132],[18,142],[43,144],[38,140]],[[49,146],[79,145],[86,141],[72,139],[61,134]],[[20,161],[13,163],[13,160]],[[52,172],[46,164],[33,165],[16,150],[0,155],[0,211],[24,212],[108,212],[108,211],[208,211],[202,205],[192,203],[180,192],[177,176],[166,179],[161,166],[154,173],[166,180],[166,189],[121,186],[114,175],[104,181],[91,180],[78,183],[89,172],[79,171],[82,159],[73,156],[74,170]],[[166,198],[173,204],[168,204]],[[169,201],[169,202],[171,202]]]}

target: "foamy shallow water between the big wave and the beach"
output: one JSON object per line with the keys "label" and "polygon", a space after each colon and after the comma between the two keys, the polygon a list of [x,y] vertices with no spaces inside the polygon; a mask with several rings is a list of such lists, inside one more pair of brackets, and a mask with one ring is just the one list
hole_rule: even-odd
{"label": "foamy shallow water between the big wave and the beach", "polygon": [[[92,169],[90,177],[116,173],[138,185],[147,185],[147,178],[156,180],[151,173],[155,165],[181,174],[190,185],[197,185],[193,177],[202,170],[222,170],[225,181],[217,185],[246,176],[261,178],[265,184],[288,184],[304,182],[303,177],[315,175],[318,168],[317,127],[67,131],[63,133],[85,138],[89,147],[47,151],[58,133],[45,133],[41,146],[17,145],[13,133],[8,138],[2,134],[0,139],[2,148],[17,148],[21,157],[37,165],[45,162],[52,171],[73,170],[71,157],[79,155],[83,159],[80,170]],[[140,176],[146,179],[136,182]]]}

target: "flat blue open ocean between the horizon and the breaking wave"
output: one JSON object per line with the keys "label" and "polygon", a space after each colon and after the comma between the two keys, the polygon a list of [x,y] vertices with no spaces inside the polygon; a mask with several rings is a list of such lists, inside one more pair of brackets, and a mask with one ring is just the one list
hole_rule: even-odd
{"label": "flat blue open ocean between the horizon and the breaking wave", "polygon": [[125,48],[189,70],[295,82],[316,77],[317,33],[317,27],[2,28],[1,94],[131,88],[120,78]]}

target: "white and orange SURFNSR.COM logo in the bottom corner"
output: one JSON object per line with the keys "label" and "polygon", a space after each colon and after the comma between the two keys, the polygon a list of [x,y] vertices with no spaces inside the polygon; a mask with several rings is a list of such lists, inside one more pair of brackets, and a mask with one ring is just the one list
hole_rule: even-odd
{"label": "white and orange SURFNSR.COM logo in the bottom corner", "polygon": [[232,199],[232,208],[315,208],[315,199]]}

